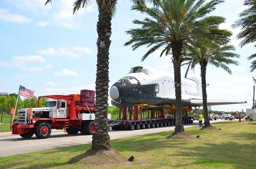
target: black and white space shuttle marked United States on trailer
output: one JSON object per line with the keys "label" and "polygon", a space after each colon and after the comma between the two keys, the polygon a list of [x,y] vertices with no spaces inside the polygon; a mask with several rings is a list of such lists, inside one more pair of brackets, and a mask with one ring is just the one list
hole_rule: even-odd
{"label": "black and white space shuttle marked United States on trailer", "polygon": [[[186,76],[185,76],[186,77]],[[182,107],[203,106],[201,77],[181,77]],[[206,82],[209,86],[209,83]],[[134,104],[148,106],[175,105],[174,75],[147,66],[136,66],[109,91],[112,105],[132,108]],[[247,103],[244,100],[207,99],[208,106]]]}

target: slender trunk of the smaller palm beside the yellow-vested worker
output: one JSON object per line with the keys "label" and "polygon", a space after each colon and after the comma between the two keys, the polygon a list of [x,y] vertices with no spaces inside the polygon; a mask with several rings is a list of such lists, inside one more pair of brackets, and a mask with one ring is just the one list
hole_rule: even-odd
{"label": "slender trunk of the smaller palm beside the yellow-vested worker", "polygon": [[210,126],[210,120],[208,118],[208,107],[207,107],[207,94],[206,94],[206,65],[207,63],[201,63],[201,78],[202,78],[202,95],[203,95],[203,110],[204,110],[204,126]]}

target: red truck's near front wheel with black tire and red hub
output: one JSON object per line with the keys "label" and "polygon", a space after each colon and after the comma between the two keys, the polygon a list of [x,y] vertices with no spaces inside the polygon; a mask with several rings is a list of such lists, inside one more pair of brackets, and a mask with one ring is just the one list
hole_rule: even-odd
{"label": "red truck's near front wheel with black tire and red hub", "polygon": [[36,137],[39,139],[48,138],[51,135],[52,128],[47,122],[38,123],[35,129]]}

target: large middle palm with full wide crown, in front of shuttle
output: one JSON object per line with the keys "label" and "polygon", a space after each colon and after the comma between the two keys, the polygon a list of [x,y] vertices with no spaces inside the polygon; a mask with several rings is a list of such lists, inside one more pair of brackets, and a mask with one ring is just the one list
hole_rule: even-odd
{"label": "large middle palm with full wide crown, in front of shuttle", "polygon": [[[181,116],[181,77],[180,67],[183,62],[181,55],[185,46],[191,48],[191,44],[196,39],[219,39],[214,37],[208,30],[208,26],[223,22],[224,18],[219,16],[209,16],[215,10],[217,4],[222,0],[162,0],[158,2],[159,7],[138,8],[134,10],[146,13],[150,18],[142,21],[134,20],[133,23],[141,25],[141,28],[126,31],[132,39],[124,45],[132,45],[133,50],[140,46],[147,45],[148,52],[142,57],[144,61],[148,55],[158,49],[163,49],[160,57],[172,54],[174,68],[175,97],[176,97],[176,127],[175,132],[184,131]],[[213,31],[214,32],[214,31]],[[218,31],[216,31],[218,32]]]}

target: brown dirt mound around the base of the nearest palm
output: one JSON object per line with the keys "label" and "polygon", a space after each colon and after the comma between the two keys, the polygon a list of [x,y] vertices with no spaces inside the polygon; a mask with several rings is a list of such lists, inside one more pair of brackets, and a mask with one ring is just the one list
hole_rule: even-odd
{"label": "brown dirt mound around the base of the nearest palm", "polygon": [[68,161],[68,164],[84,165],[85,167],[107,167],[114,165],[134,166],[140,165],[141,162],[133,162],[128,160],[115,149],[99,150],[97,152],[92,149],[87,150],[85,153],[77,155]]}

